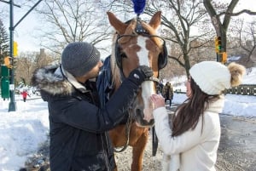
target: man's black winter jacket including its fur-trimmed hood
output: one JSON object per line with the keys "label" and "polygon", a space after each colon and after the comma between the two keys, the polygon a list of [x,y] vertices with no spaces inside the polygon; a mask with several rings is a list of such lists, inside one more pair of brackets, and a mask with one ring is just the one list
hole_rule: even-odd
{"label": "man's black winter jacket including its fur-trimmed hood", "polygon": [[56,67],[35,71],[32,84],[49,107],[49,162],[51,171],[112,171],[113,146],[108,130],[115,127],[134,99],[138,85],[126,79],[101,109],[95,83],[82,93]]}

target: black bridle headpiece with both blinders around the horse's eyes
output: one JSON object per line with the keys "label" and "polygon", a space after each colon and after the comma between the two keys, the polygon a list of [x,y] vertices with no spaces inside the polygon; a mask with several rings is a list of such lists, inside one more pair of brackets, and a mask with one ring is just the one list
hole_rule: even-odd
{"label": "black bridle headpiece with both blinders around the horse's eyes", "polygon": [[[129,23],[130,21],[131,20],[127,21],[126,24]],[[137,26],[135,29],[137,34],[143,34],[147,37],[159,37],[157,35],[149,35],[148,31],[146,31],[140,23],[141,23],[141,20],[138,20]],[[119,68],[122,68],[122,59],[127,58],[125,53],[120,53],[119,39],[121,37],[137,37],[137,34],[118,35],[118,37],[115,41],[115,59],[116,59],[117,66],[119,66]],[[158,57],[158,69],[161,70],[164,67],[166,67],[166,65],[167,65],[168,53],[167,53],[167,48],[166,48],[166,41],[162,37],[159,37],[159,38],[163,41],[163,49]]]}

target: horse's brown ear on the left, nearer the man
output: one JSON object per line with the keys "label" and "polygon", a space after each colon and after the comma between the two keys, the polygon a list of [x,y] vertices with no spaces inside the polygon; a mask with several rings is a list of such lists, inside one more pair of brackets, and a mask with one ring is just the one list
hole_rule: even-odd
{"label": "horse's brown ear on the left, nearer the man", "polygon": [[107,12],[107,14],[108,14],[108,20],[109,20],[111,26],[113,26],[113,28],[119,34],[124,34],[127,25],[125,23],[123,23],[121,20],[119,20],[118,18],[116,18],[116,16],[113,13]]}

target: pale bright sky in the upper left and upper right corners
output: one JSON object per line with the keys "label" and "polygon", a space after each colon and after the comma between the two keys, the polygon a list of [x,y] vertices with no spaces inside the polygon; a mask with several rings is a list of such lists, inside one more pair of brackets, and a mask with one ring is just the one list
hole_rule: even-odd
{"label": "pale bright sky in the upper left and upper right corners", "polygon": [[[221,0],[221,2],[224,2],[227,0]],[[38,0],[32,1],[32,5],[37,3]],[[228,0],[227,2],[230,2]],[[248,3],[249,2],[249,3]],[[17,0],[14,0],[14,3],[20,5],[21,3]],[[41,3],[44,3],[42,1]],[[41,3],[38,4],[38,6],[42,5]],[[9,4],[7,3],[1,3],[0,5],[4,8],[9,7]],[[21,8],[14,7],[14,25],[21,19],[24,14],[29,10],[24,5],[20,5]],[[0,8],[1,9],[1,8]],[[240,0],[238,5],[236,6],[234,12],[240,9],[250,9],[253,11],[256,11],[256,1],[248,1],[248,0]],[[6,11],[9,11],[7,8]],[[241,16],[246,17],[247,19],[252,18],[250,15],[243,14]],[[248,17],[249,16],[249,17]],[[6,27],[7,31],[9,32],[9,15],[3,20],[4,26]],[[42,23],[40,20],[38,20],[37,14],[32,11],[30,14],[26,16],[24,20],[20,22],[18,26],[15,27],[15,34],[14,34],[14,40],[18,43],[18,49],[19,53],[26,52],[26,51],[39,51],[40,47],[40,40],[37,38],[37,30],[38,28],[42,27]]]}

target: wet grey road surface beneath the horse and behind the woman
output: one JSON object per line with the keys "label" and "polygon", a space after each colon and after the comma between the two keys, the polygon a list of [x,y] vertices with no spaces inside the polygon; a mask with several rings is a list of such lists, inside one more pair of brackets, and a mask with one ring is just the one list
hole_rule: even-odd
{"label": "wet grey road surface beneath the horse and behind the woman", "polygon": [[[170,114],[176,109],[166,106]],[[217,171],[256,171],[256,118],[233,117],[220,114],[222,128],[218,147]],[[158,147],[156,155],[152,156],[152,141],[149,136],[143,157],[143,171],[161,170],[162,151]],[[38,151],[39,155],[26,163],[27,171],[49,171],[49,140]],[[125,151],[116,153],[116,162],[119,171],[129,171],[132,149],[129,146]],[[38,161],[44,160],[42,168],[34,168]]]}

